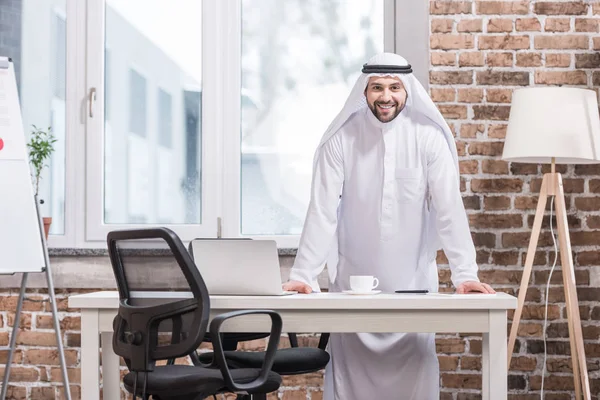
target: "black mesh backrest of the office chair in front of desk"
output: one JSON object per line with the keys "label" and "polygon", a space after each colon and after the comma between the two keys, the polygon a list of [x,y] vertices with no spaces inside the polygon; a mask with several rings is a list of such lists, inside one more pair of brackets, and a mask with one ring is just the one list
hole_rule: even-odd
{"label": "black mesh backrest of the office chair in front of desk", "polygon": [[[165,249],[143,257],[136,255],[139,250],[127,248],[132,242],[149,239],[161,241]],[[196,349],[207,329],[210,299],[177,235],[164,228],[125,230],[110,232],[107,241],[119,289],[115,353],[131,371],[149,372],[155,360],[182,357]],[[177,291],[191,296],[174,297]],[[146,330],[149,336],[142,337]],[[170,342],[165,343],[168,334]]]}

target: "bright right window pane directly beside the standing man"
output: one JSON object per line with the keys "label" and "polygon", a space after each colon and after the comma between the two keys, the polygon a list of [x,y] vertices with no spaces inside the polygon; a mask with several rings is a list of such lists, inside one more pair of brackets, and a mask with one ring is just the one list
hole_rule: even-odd
{"label": "bright right window pane directly beside the standing man", "polygon": [[319,139],[384,49],[384,3],[243,0],[241,15],[241,233],[299,235]]}

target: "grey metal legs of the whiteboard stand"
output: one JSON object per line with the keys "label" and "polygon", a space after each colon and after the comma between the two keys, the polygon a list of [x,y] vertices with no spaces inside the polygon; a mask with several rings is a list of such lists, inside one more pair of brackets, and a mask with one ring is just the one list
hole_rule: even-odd
{"label": "grey metal legs of the whiteboard stand", "polygon": [[[54,295],[54,281],[52,280],[52,272],[50,270],[50,257],[48,256],[48,246],[46,245],[46,235],[44,234],[44,223],[40,215],[40,208],[38,205],[38,199],[35,199],[38,225],[40,228],[40,236],[44,248],[44,260],[46,267],[44,272],[46,273],[46,280],[48,283],[48,296],[50,297],[50,305],[52,307],[52,321],[54,323],[54,332],[56,333],[56,343],[58,345],[58,356],[60,358],[60,369],[63,375],[63,383],[65,385],[65,397],[67,400],[71,400],[71,388],[69,386],[69,376],[67,375],[67,363],[65,362],[65,351],[63,349],[62,338],[60,333],[60,322],[58,320],[58,311],[56,308],[56,297]],[[8,359],[6,360],[6,368],[4,369],[4,380],[2,381],[2,394],[0,395],[1,400],[6,399],[6,392],[8,390],[8,378],[10,377],[10,366],[12,364],[13,355],[17,343],[17,333],[19,330],[19,324],[21,322],[21,309],[23,308],[23,300],[25,299],[25,290],[27,288],[27,277],[29,272],[23,273],[21,279],[21,290],[19,291],[19,300],[17,302],[17,311],[15,313],[15,320],[13,323],[12,334],[10,337],[10,349],[8,351]]]}

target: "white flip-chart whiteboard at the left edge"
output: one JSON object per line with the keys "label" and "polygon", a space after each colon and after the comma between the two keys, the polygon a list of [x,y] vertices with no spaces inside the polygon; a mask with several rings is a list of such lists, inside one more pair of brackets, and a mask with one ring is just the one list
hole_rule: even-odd
{"label": "white flip-chart whiteboard at the left edge", "polygon": [[0,274],[44,271],[42,235],[14,67],[0,57]]}

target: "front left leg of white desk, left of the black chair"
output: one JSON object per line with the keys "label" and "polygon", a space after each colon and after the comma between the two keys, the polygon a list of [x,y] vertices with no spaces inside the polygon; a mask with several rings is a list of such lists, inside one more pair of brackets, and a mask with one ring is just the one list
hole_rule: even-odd
{"label": "front left leg of white desk, left of the black chair", "polygon": [[98,317],[98,310],[81,310],[81,398],[85,400],[100,399]]}

